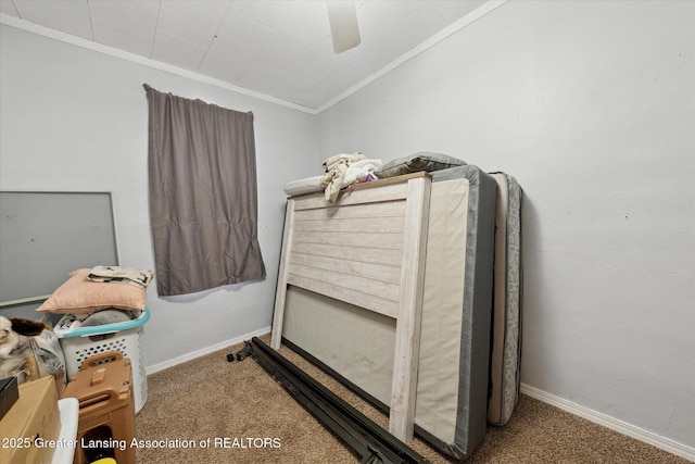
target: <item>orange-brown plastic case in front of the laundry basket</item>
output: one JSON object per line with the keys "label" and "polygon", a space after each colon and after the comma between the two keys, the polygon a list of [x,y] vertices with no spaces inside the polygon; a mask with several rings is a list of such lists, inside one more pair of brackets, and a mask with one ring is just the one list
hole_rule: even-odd
{"label": "orange-brown plastic case in front of the laundry basket", "polygon": [[79,401],[77,449],[74,464],[114,457],[135,462],[135,401],[130,359],[118,351],[85,360],[71,377],[63,398]]}

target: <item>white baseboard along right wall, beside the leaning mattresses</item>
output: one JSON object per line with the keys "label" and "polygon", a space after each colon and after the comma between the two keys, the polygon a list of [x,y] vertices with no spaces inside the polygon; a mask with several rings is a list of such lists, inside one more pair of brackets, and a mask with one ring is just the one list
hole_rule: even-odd
{"label": "white baseboard along right wall, beside the leaning mattresses", "polygon": [[573,403],[564,398],[556,397],[526,384],[521,384],[520,390],[522,393],[528,394],[529,397],[534,398],[539,401],[543,401],[544,403],[559,407],[563,411],[567,411],[568,413],[583,417],[586,421],[591,421],[606,428],[610,428],[611,430],[616,430],[619,434],[627,435],[628,437],[634,438],[636,440],[644,441],[645,443],[652,444],[664,451],[668,451],[671,454],[675,454],[695,463],[695,448],[679,443],[678,441],[673,441],[669,438],[661,437],[657,434],[645,430],[624,421],[620,421],[607,414],[590,410],[589,407],[582,406],[581,404]]}

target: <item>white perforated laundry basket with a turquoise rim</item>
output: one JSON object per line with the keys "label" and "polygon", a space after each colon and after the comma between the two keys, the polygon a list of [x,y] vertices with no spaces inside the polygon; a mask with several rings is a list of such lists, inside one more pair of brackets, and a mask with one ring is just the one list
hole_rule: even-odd
{"label": "white perforated laundry basket with a turquoise rim", "polygon": [[66,314],[55,325],[55,335],[65,355],[67,376],[79,371],[88,358],[109,351],[119,351],[124,358],[130,359],[132,366],[132,396],[135,412],[140,412],[148,399],[148,376],[144,360],[144,323],[150,319],[147,308],[137,319],[80,327],[72,314]]}

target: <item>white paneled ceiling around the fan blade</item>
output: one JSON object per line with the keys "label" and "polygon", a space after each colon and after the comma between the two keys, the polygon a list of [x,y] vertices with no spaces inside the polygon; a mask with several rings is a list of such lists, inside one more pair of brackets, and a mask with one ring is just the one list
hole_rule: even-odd
{"label": "white paneled ceiling around the fan blade", "polygon": [[323,0],[0,0],[0,12],[320,111],[484,3],[357,0],[362,43],[340,54]]}

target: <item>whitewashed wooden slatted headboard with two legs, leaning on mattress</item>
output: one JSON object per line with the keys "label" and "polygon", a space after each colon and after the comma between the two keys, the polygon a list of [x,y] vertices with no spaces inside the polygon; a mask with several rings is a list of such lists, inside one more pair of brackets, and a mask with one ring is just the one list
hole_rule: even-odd
{"label": "whitewashed wooden slatted headboard with two legs, leaning on mattress", "polygon": [[359,184],[336,203],[288,200],[270,346],[280,347],[287,286],[396,321],[389,431],[413,439],[430,177]]}

